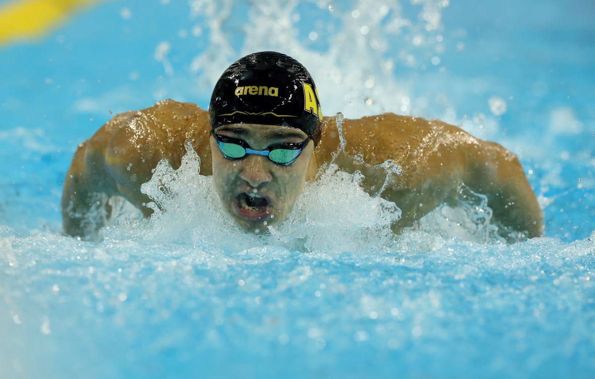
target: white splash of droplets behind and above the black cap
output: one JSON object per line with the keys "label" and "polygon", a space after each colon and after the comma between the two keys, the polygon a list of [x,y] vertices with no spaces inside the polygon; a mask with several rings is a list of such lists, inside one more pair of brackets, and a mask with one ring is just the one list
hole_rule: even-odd
{"label": "white splash of droplets behind and above the black cap", "polygon": [[[433,67],[432,59],[444,52],[441,14],[449,2],[266,0],[242,8],[230,0],[192,0],[189,5],[191,19],[201,25],[195,36],[201,46],[208,40],[190,65],[206,89],[214,86],[221,67],[240,56],[277,50],[299,58],[317,78],[323,109],[352,117],[417,107],[395,70]],[[241,29],[228,27],[240,20]],[[314,42],[310,33],[317,36]],[[395,99],[406,100],[395,105]]]}

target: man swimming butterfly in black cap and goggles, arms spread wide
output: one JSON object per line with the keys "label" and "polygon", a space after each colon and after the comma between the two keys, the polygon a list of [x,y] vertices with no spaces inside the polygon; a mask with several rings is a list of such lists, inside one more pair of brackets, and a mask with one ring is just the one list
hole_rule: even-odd
{"label": "man swimming butterfly in black cap and goggles, arms spread wide", "polygon": [[[464,184],[487,196],[495,222],[529,238],[541,235],[541,210],[523,168],[499,144],[444,122],[393,113],[345,119],[343,135],[346,153],[362,154],[370,165],[391,159],[402,166],[403,175],[381,194],[402,210],[394,232],[455,201]],[[80,144],[64,181],[64,232],[93,236],[106,221],[112,196],[150,216],[153,210],[144,204],[151,198],[140,186],[159,160],[179,168],[186,140],[201,158],[201,174],[213,176],[226,212],[255,233],[284,219],[339,146],[335,118],[322,116],[306,68],[281,53],[253,53],[221,75],[208,111],[164,100],[114,116]],[[335,163],[346,170],[353,165],[349,159]],[[362,173],[384,179],[378,170]]]}

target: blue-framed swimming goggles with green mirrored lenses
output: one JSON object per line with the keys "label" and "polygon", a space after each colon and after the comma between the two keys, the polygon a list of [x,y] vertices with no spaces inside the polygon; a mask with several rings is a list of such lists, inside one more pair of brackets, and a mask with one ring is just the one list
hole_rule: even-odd
{"label": "blue-framed swimming goggles with green mirrored lenses", "polygon": [[298,143],[280,143],[271,145],[266,150],[253,150],[245,141],[214,132],[211,134],[215,137],[217,146],[225,159],[236,160],[245,158],[248,154],[258,154],[268,157],[268,160],[275,163],[275,165],[281,166],[289,166],[295,162],[299,154],[302,153],[303,147],[310,140],[310,137],[308,137]]}

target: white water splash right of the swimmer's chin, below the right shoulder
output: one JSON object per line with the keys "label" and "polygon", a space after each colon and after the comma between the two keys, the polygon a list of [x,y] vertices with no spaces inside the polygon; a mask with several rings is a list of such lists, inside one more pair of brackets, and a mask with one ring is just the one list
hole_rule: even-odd
{"label": "white water splash right of the swimmer's chin, below the right shoulder", "polygon": [[394,203],[371,197],[361,187],[363,175],[335,163],[306,185],[292,212],[271,233],[286,244],[303,243],[309,251],[379,251],[400,218]]}

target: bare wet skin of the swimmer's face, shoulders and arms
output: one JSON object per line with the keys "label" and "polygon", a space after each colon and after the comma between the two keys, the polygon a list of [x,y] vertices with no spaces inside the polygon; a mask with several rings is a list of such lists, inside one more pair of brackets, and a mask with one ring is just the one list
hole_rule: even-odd
{"label": "bare wet skin of the swimmer's face, shoulders and arms", "polygon": [[[62,191],[64,232],[92,238],[105,220],[90,220],[88,214],[93,207],[109,211],[105,197],[113,195],[125,198],[150,216],[152,210],[143,203],[151,199],[140,192],[140,185],[151,179],[151,170],[161,159],[179,168],[186,153],[185,140],[190,140],[201,158],[201,174],[215,176],[223,205],[240,227],[255,232],[264,226],[264,220],[280,222],[304,182],[314,175],[317,163],[328,162],[337,150],[339,136],[334,124],[334,118],[325,117],[316,149],[310,141],[295,166],[288,169],[275,167],[264,156],[225,160],[209,135],[208,112],[193,103],[164,100],[139,112],[121,113],[80,144],[74,154]],[[246,126],[247,131],[234,131],[225,125],[218,132],[241,137],[252,149],[266,149],[274,130],[253,126]],[[343,134],[347,153],[362,154],[372,165],[392,159],[402,166],[403,175],[394,176],[382,194],[402,210],[402,219],[393,224],[394,232],[415,226],[439,204],[456,202],[462,184],[487,196],[496,222],[525,231],[529,237],[540,236],[543,231],[541,209],[524,169],[517,157],[499,144],[479,140],[441,121],[393,113],[345,119]],[[286,137],[288,142],[299,142],[305,134]],[[347,172],[353,170],[352,162],[336,163]],[[377,170],[362,172],[372,181],[383,179],[374,178]],[[270,208],[258,210],[265,213],[238,209],[239,196],[245,200],[251,190],[269,197]],[[96,194],[107,196],[98,201]]]}

